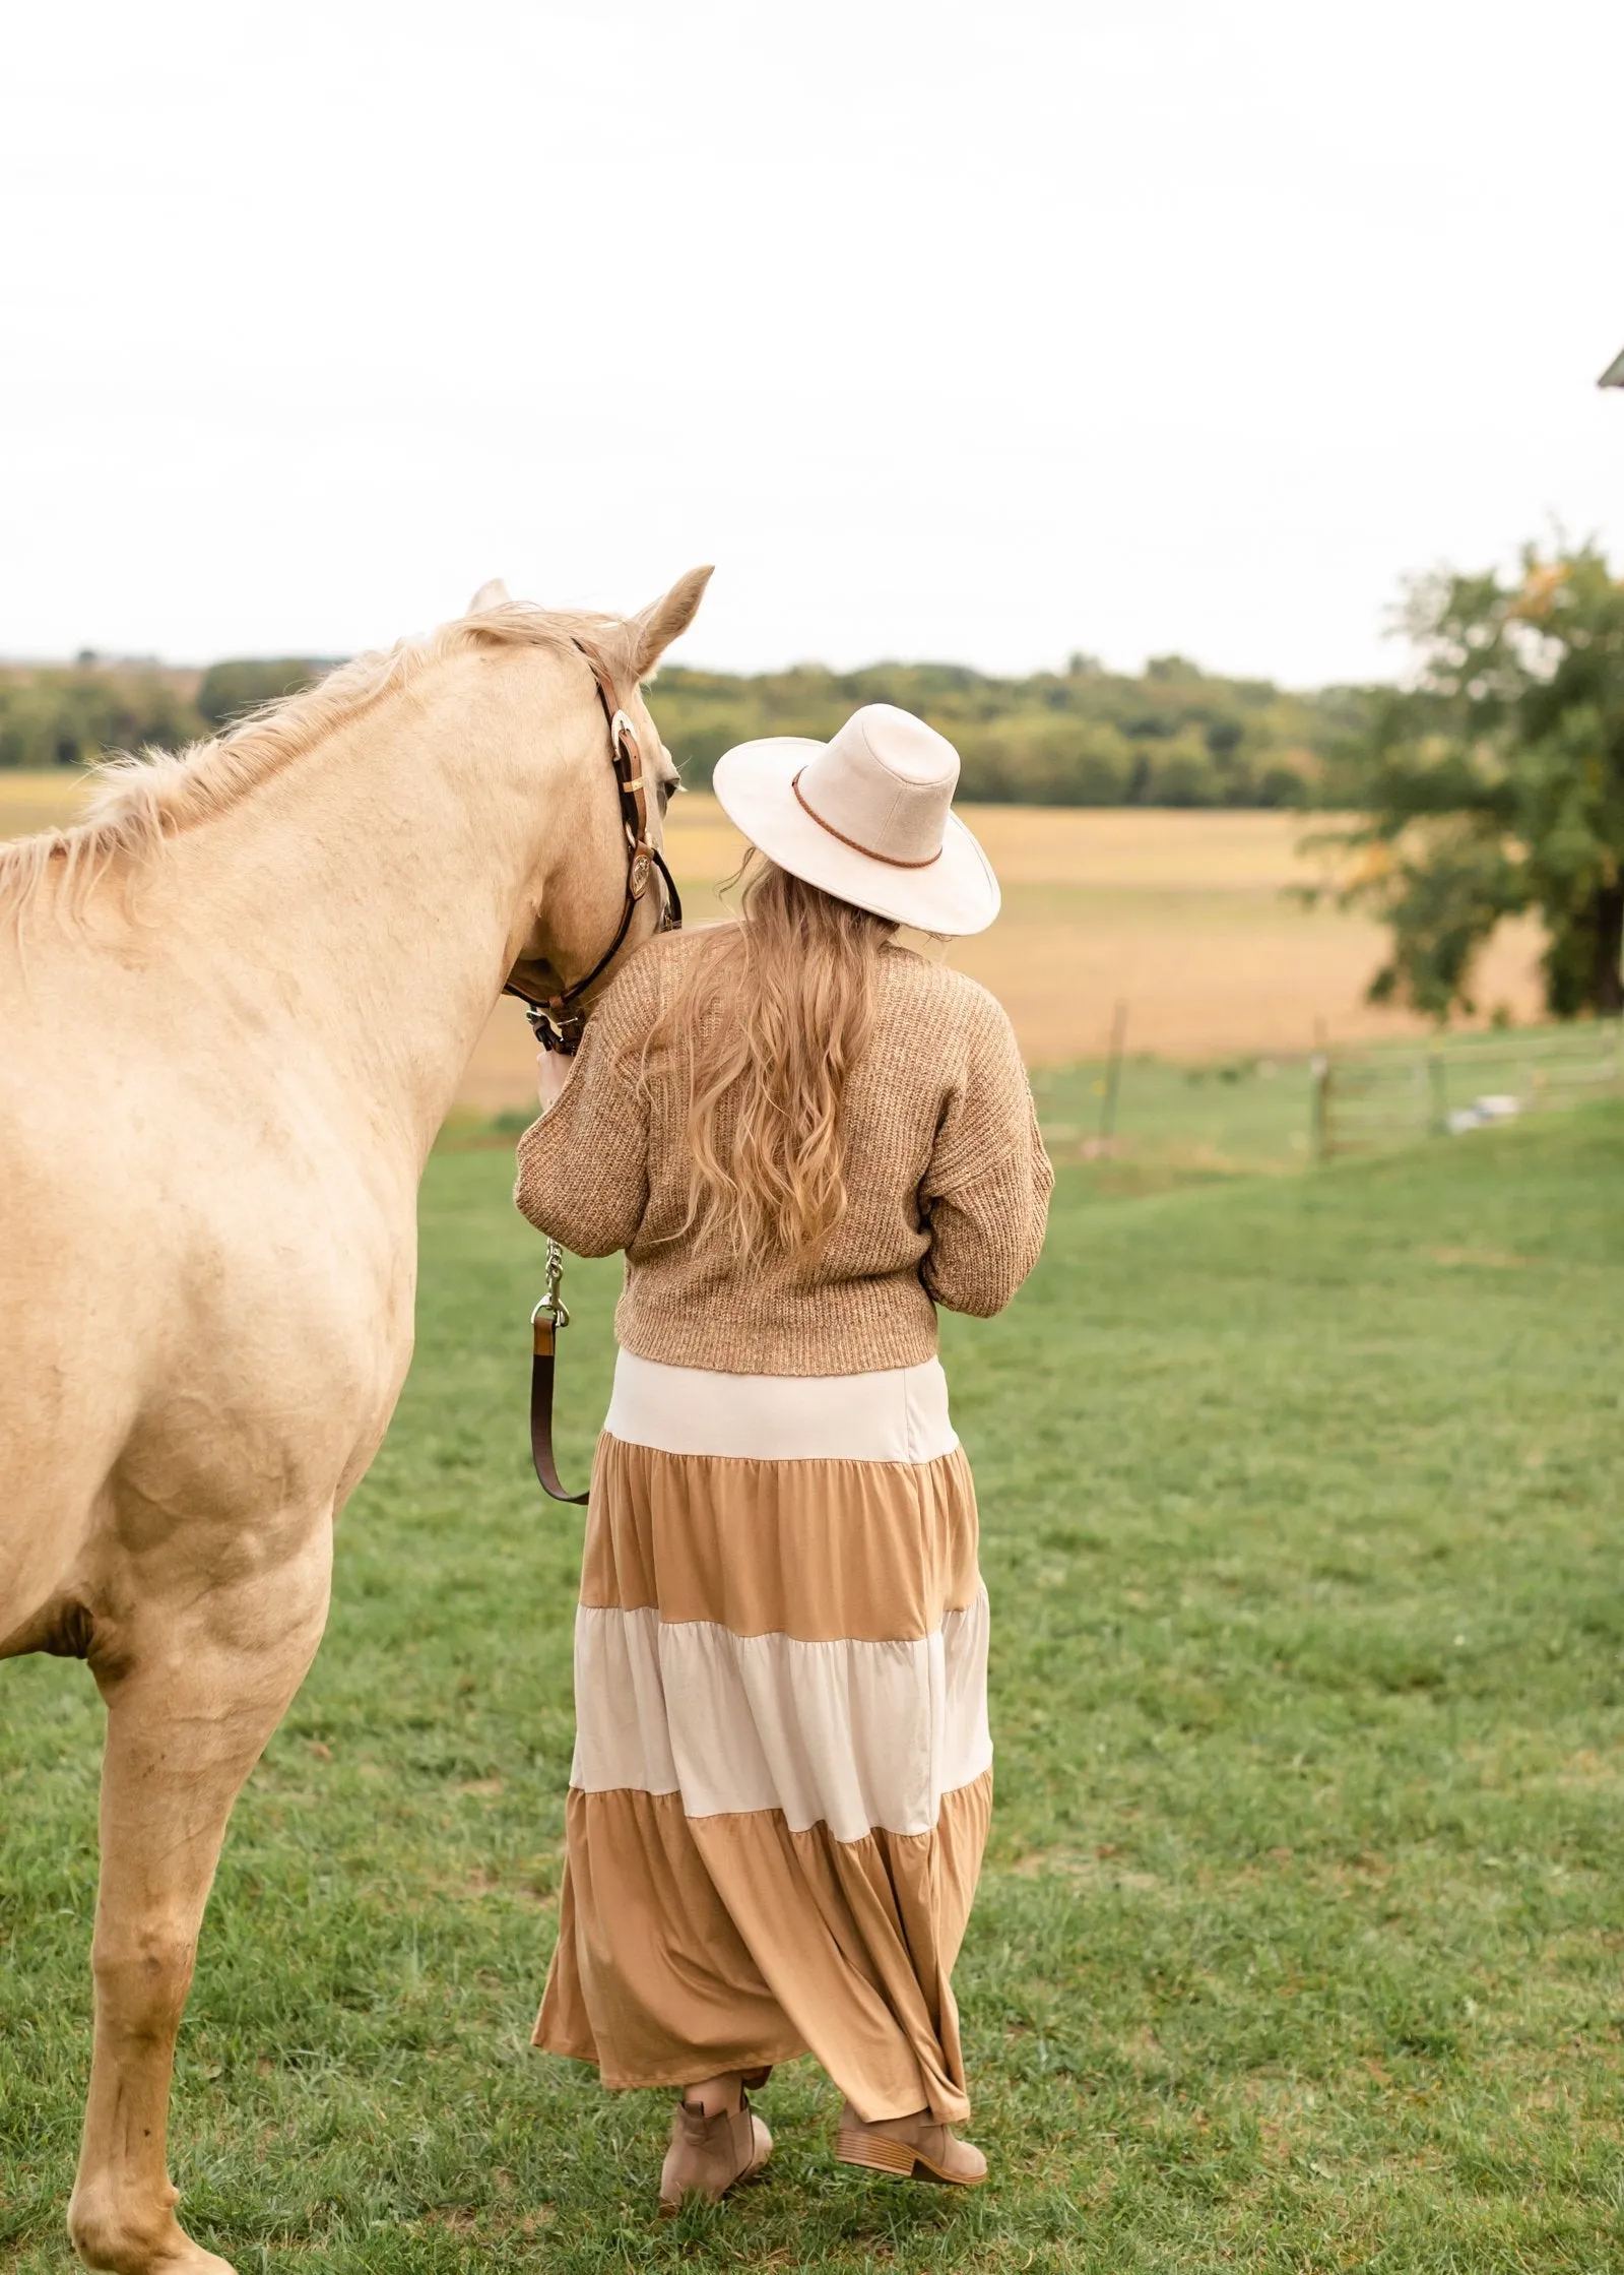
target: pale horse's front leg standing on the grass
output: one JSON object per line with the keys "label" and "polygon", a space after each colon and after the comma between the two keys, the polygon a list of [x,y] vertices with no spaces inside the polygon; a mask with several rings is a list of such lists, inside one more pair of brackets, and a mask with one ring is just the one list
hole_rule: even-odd
{"label": "pale horse's front leg standing on the grass", "polygon": [[[175,2034],[243,1779],[328,1618],[332,1520],[289,1527],[225,1586],[164,1588],[91,1645],[107,1697],[96,2052],[68,2232],[107,2275],[232,2275],[175,2220],[164,2152]],[[241,1567],[239,1567],[241,1572]]]}

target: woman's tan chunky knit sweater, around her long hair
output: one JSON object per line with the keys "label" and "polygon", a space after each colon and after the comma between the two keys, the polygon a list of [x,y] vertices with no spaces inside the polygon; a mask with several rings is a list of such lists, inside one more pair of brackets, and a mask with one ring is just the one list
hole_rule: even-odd
{"label": "woman's tan chunky knit sweater, around her long hair", "polygon": [[575,1256],[625,1249],[614,1313],[639,1358],[723,1374],[867,1374],[935,1356],[935,1306],[989,1317],[1037,1263],[1053,1169],[1001,1006],[908,949],[842,1106],[851,1206],[812,1260],[735,1265],[687,1215],[685,1101],[644,1040],[694,933],[653,940],[587,1024],[575,1074],[519,1140],[514,1199]]}

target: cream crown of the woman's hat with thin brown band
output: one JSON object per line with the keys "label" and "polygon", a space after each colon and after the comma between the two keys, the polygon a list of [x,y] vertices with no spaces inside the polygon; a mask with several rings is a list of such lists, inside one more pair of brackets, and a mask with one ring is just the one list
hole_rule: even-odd
{"label": "cream crown of the woman's hat with thin brown band", "polygon": [[894,703],[864,703],[796,776],[796,799],[826,830],[898,869],[942,853],[958,751]]}

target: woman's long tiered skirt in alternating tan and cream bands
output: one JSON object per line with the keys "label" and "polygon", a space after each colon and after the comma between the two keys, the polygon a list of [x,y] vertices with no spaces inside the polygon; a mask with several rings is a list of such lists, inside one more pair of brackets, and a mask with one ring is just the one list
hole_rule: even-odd
{"label": "woman's long tiered skirt in alternating tan and cream bands", "polygon": [[951,1970],[989,1806],[976,1488],[942,1367],[621,1351],[535,2043],[607,2086],[810,2050],[862,2118],[962,2123]]}

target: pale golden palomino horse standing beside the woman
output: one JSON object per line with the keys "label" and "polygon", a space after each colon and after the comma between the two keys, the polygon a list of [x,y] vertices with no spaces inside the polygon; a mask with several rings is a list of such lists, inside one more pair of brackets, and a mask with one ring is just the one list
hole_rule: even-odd
{"label": "pale golden palomino horse standing beside the woman", "polygon": [[412,1356],[423,1160],[503,983],[616,940],[605,708],[660,753],[657,842],[639,680],[707,576],[628,621],[484,587],[0,851],[0,1658],[86,1658],[107,1702],[91,2268],[230,2275],[164,2154],[225,1820]]}

